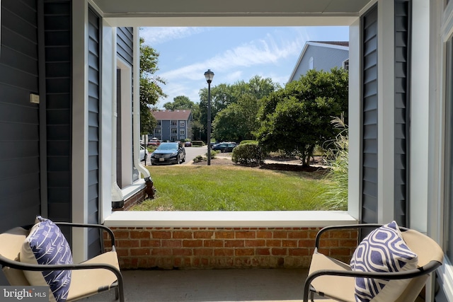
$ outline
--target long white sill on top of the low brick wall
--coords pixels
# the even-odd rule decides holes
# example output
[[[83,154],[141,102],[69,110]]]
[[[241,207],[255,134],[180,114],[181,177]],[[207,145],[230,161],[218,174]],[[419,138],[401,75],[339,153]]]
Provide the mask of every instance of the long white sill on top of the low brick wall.
[[[112,227],[322,227],[358,223],[347,211],[114,211]]]

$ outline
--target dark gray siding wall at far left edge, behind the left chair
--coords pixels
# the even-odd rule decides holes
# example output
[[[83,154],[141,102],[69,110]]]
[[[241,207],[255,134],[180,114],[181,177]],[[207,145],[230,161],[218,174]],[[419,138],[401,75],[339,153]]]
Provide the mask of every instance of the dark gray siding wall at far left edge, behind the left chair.
[[[37,33],[36,1],[1,1],[0,231],[40,214]]]

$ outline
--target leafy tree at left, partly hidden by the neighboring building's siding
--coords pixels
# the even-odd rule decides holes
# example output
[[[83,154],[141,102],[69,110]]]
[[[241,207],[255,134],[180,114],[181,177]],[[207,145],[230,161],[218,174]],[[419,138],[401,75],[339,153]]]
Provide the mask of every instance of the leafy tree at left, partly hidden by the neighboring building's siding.
[[[166,97],[159,83],[165,85],[164,79],[154,76],[159,63],[159,53],[144,44],[140,38],[140,134],[154,131],[157,121],[152,115],[151,106],[156,105],[159,98]]]

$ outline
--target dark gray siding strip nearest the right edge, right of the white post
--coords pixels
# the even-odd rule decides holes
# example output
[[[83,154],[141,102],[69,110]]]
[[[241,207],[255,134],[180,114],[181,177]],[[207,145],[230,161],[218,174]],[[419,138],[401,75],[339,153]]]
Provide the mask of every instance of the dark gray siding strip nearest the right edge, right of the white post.
[[[395,1],[395,221],[407,226],[410,2]]]

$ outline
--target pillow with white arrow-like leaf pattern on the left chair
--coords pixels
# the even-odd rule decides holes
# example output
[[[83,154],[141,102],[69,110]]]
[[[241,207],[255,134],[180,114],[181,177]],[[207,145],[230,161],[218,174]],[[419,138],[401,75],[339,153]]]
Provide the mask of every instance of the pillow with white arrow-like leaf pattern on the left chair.
[[[37,219],[40,222],[33,226],[23,243],[21,262],[34,265],[72,264],[71,249],[59,227],[49,219],[40,216]],[[71,284],[70,270],[24,271],[24,274],[30,285],[49,285],[55,301],[66,301]]]

